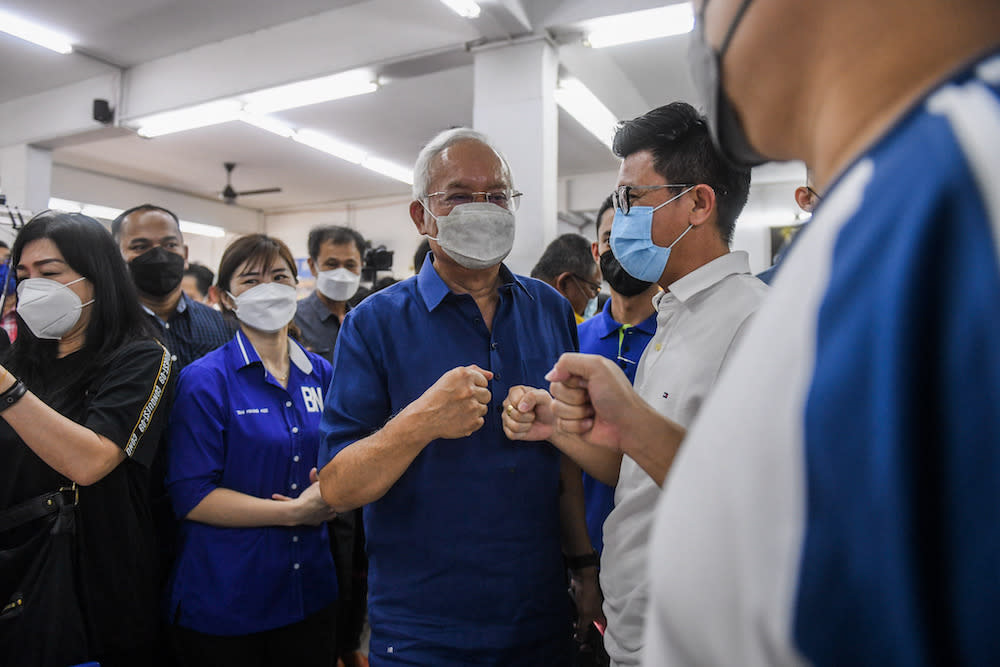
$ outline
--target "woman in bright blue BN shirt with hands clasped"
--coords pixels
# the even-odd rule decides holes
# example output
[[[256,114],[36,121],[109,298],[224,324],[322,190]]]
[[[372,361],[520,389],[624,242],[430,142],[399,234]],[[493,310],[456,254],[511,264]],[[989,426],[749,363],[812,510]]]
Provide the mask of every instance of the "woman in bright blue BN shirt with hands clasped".
[[[168,614],[182,665],[334,662],[336,574],[316,483],[330,365],[289,338],[295,261],[263,234],[218,272],[232,341],[181,373],[167,489],[181,523]]]

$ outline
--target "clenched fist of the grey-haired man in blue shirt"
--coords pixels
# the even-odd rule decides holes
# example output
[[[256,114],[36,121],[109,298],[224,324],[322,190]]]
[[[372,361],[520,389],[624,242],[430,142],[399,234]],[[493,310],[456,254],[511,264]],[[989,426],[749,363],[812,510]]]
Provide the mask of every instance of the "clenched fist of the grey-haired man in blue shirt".
[[[464,438],[482,428],[492,399],[487,388],[492,379],[492,372],[473,364],[453,368],[431,385],[417,399],[428,440]]]

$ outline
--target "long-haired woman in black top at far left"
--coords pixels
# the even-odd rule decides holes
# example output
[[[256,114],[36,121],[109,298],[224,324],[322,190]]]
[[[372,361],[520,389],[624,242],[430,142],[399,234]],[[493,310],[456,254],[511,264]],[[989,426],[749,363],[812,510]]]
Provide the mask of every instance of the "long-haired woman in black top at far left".
[[[19,327],[0,366],[0,512],[75,483],[71,585],[88,647],[77,661],[152,664],[159,565],[149,466],[173,390],[170,354],[148,335],[121,253],[97,221],[41,213],[12,256]],[[0,534],[0,549],[28,534],[30,525]],[[18,593],[14,569],[0,560],[0,605]],[[0,630],[4,622],[0,614]],[[42,625],[21,627],[21,641],[59,637]]]

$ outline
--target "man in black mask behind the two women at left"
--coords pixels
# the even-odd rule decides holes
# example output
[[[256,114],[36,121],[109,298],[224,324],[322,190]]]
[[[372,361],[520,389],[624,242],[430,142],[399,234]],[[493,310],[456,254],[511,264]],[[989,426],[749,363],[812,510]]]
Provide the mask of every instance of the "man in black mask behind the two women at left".
[[[184,294],[187,246],[177,216],[143,204],[111,223],[143,310],[179,368],[229,342],[233,330],[217,311]]]

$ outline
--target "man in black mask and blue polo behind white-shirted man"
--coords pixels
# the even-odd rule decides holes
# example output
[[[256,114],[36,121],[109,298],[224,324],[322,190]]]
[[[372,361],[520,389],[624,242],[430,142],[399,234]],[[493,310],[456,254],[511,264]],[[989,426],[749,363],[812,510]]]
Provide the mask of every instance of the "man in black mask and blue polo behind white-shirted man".
[[[597,211],[597,240],[591,244],[594,259],[611,288],[604,309],[580,324],[580,352],[599,354],[618,364],[629,382],[635,382],[639,358],[656,333],[653,297],[660,291],[655,282],[630,276],[611,252],[611,222],[615,209],[608,196]],[[587,532],[597,553],[604,548],[604,520],[615,506],[615,489],[583,473],[583,496],[587,506]]]

